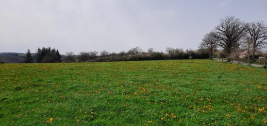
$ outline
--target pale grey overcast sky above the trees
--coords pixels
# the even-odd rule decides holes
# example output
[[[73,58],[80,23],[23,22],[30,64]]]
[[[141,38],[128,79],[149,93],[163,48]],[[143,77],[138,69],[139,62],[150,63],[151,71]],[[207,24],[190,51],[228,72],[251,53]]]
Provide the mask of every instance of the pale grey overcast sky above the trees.
[[[226,16],[267,23],[267,0],[0,0],[0,52],[195,50]]]

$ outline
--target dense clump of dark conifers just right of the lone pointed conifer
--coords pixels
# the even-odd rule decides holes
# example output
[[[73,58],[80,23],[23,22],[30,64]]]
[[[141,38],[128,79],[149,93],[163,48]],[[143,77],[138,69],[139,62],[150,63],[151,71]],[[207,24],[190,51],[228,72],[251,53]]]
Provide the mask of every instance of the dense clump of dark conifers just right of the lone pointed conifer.
[[[58,50],[43,47],[38,48],[34,55],[36,63],[57,63],[61,62],[61,55]]]

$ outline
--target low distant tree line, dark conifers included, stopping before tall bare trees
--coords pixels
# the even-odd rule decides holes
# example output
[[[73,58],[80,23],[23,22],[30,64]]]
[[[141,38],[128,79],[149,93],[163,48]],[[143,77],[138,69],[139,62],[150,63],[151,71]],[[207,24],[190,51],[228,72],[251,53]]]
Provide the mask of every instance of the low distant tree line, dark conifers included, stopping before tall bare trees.
[[[167,48],[166,53],[156,52],[153,48],[149,48],[144,52],[140,47],[134,47],[129,51],[121,51],[119,53],[110,53],[106,50],[80,52],[74,54],[67,52],[61,55],[58,50],[49,48],[38,48],[34,55],[30,50],[25,56],[25,63],[56,63],[56,62],[109,62],[109,61],[137,61],[137,60],[164,60],[164,59],[204,59],[209,54],[201,50],[186,50]]]

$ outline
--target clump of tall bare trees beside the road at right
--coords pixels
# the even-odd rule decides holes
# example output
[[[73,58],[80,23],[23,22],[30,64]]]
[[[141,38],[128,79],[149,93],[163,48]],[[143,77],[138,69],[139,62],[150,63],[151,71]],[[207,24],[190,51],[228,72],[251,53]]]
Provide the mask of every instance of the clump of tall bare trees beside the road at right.
[[[217,49],[222,49],[228,62],[239,62],[240,54],[246,52],[250,63],[250,58],[256,56],[255,52],[262,52],[264,48],[267,48],[267,27],[264,21],[245,23],[233,16],[221,19],[219,25],[206,34],[200,43],[200,50],[208,52],[210,59]]]

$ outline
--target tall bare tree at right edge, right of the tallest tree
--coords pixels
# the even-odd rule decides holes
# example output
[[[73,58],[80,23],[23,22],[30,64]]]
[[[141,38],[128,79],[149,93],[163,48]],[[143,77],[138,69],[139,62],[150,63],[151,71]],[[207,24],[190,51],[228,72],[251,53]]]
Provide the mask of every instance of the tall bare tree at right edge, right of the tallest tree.
[[[246,24],[246,31],[251,39],[252,58],[255,52],[267,46],[267,27],[264,21],[257,21]]]

